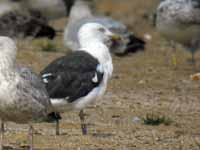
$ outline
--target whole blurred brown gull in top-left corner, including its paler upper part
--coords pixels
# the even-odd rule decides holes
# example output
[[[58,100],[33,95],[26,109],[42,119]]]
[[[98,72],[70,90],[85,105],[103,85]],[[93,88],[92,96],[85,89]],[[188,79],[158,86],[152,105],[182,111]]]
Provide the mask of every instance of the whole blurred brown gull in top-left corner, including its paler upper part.
[[[53,39],[55,30],[39,13],[23,7],[22,0],[0,1],[0,35],[12,38],[27,36]]]

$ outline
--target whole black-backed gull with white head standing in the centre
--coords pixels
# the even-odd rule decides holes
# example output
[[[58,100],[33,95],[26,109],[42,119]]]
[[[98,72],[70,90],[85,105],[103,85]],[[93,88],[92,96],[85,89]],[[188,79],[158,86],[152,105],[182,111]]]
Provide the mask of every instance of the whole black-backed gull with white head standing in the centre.
[[[58,112],[80,110],[83,134],[87,134],[83,109],[105,93],[113,72],[109,43],[117,39],[101,24],[84,24],[78,31],[80,48],[41,71],[54,108]]]

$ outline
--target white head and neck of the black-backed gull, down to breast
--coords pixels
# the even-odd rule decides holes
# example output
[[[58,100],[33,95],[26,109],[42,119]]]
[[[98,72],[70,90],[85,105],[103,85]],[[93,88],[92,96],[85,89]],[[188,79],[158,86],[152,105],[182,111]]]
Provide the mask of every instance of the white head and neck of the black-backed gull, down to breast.
[[[106,27],[99,23],[84,24],[79,32],[78,39],[80,50],[90,53],[97,58],[104,73],[110,77],[113,71],[112,57],[109,48],[113,40],[120,40],[120,36],[110,32]]]

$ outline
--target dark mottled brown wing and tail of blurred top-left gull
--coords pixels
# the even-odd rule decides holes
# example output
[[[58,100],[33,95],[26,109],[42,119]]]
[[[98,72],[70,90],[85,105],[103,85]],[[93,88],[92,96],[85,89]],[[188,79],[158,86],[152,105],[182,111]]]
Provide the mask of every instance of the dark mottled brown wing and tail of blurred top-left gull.
[[[44,18],[23,11],[11,11],[0,16],[0,35],[12,38],[46,37],[53,39],[56,31]]]

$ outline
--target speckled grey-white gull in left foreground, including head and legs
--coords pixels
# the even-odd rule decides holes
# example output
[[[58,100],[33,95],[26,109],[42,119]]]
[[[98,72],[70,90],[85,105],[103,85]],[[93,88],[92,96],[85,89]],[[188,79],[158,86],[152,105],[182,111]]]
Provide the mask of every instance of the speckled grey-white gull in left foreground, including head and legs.
[[[17,48],[13,40],[0,36],[0,118],[1,148],[3,122],[30,124],[33,146],[32,122],[57,120],[48,93],[39,76],[28,68],[16,66]]]

